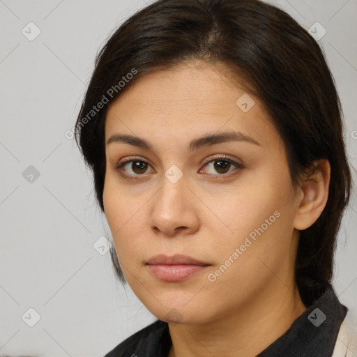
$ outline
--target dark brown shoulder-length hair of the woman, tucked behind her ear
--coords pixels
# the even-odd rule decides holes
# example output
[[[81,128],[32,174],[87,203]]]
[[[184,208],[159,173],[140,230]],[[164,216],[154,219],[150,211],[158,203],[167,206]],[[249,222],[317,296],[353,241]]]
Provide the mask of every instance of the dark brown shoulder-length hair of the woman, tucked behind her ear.
[[[100,208],[104,212],[107,107],[139,77],[190,59],[227,65],[261,100],[286,146],[294,186],[314,160],[326,158],[331,164],[328,202],[314,225],[301,231],[296,258],[296,282],[309,306],[316,298],[312,285],[333,277],[335,238],[349,202],[351,173],[340,101],[324,54],[275,6],[259,0],[159,0],[112,34],[96,58],[75,127],[77,144],[93,169]],[[98,102],[105,105],[91,112]],[[125,282],[115,250],[111,254]]]

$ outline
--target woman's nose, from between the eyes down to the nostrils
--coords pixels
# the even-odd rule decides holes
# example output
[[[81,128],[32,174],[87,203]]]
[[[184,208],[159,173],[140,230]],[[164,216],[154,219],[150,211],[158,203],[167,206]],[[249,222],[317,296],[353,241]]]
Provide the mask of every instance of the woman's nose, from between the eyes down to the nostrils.
[[[176,183],[163,176],[161,188],[150,200],[148,225],[155,234],[174,237],[199,229],[200,201],[188,184],[185,175]]]

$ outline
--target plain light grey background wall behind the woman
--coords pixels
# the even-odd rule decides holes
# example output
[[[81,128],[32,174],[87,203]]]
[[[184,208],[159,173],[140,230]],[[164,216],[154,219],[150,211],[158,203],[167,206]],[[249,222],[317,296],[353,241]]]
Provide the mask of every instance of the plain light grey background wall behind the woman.
[[[319,43],[335,76],[349,159],[357,167],[357,1],[276,3],[305,29],[319,22],[327,31]],[[129,287],[116,282],[109,253],[93,248],[109,229],[96,206],[91,173],[65,136],[98,49],[144,6],[143,0],[0,0],[1,356],[104,356],[155,319]],[[40,29],[32,41],[22,33],[36,34],[29,22]],[[40,174],[32,182],[30,165]],[[333,283],[354,314],[356,229],[354,190]],[[40,314],[33,327],[30,307]]]

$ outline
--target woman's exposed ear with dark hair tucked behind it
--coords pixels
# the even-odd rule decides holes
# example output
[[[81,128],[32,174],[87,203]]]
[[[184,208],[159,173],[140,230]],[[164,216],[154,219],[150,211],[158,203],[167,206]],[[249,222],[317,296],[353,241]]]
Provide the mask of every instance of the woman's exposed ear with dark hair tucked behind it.
[[[312,174],[304,179],[299,206],[294,218],[294,228],[306,229],[317,221],[326,206],[330,185],[331,166],[327,159],[314,161]]]

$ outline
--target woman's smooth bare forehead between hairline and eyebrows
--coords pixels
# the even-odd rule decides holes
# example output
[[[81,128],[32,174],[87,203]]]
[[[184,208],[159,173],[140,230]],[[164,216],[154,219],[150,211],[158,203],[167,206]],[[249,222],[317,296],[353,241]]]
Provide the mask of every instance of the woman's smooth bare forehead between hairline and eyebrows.
[[[120,132],[152,140],[182,139],[183,144],[205,132],[231,130],[262,144],[279,141],[259,100],[234,85],[228,72],[224,66],[196,61],[137,79],[109,106],[106,142]]]

